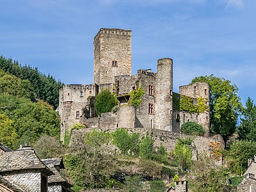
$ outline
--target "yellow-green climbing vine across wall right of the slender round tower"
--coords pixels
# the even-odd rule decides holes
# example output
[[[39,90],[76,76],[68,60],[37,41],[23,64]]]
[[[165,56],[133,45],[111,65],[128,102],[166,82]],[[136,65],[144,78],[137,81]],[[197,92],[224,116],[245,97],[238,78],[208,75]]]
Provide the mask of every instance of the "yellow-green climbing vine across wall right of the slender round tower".
[[[193,98],[178,93],[173,93],[173,108],[189,113],[204,113],[208,111],[208,100],[203,97],[196,98],[196,104],[193,104]]]

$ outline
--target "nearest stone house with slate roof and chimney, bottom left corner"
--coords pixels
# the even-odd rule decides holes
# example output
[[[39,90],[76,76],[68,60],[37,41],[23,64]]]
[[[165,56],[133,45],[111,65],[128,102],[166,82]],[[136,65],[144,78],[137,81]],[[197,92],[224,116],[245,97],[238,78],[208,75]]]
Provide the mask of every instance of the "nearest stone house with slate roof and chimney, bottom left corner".
[[[21,191],[47,192],[47,177],[53,172],[25,145],[17,151],[1,152],[0,175]]]

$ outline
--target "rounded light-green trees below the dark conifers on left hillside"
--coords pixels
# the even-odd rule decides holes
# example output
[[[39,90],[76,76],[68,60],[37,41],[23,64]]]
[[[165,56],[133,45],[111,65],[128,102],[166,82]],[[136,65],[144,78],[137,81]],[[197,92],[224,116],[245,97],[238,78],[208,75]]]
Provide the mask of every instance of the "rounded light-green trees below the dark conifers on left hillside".
[[[33,144],[43,134],[60,134],[58,113],[42,100],[31,102],[29,99],[3,93],[0,94],[0,113],[13,120],[15,131],[19,135],[16,147],[24,141]]]

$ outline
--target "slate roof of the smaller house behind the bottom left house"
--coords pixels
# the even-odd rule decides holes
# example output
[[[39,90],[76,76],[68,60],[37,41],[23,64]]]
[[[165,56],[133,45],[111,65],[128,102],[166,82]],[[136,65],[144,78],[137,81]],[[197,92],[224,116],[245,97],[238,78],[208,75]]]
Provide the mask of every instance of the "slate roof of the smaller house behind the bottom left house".
[[[72,185],[69,184],[69,182],[67,182],[67,180],[65,180],[64,177],[62,177],[60,172],[56,170],[55,166],[60,166],[60,168],[64,168],[62,158],[42,159],[42,162],[44,162],[44,164],[46,164],[46,166],[51,170],[51,172],[54,173],[54,175],[48,177],[48,184],[60,183],[66,188],[72,187]]]

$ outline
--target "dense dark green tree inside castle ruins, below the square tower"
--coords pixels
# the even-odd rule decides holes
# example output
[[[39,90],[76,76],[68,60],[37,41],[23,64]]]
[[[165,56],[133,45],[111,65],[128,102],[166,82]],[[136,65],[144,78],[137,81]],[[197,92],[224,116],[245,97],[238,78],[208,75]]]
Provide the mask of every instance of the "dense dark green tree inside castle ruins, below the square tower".
[[[114,106],[117,106],[118,100],[110,90],[101,90],[96,96],[95,108],[97,114],[100,116],[101,113],[110,112]]]

